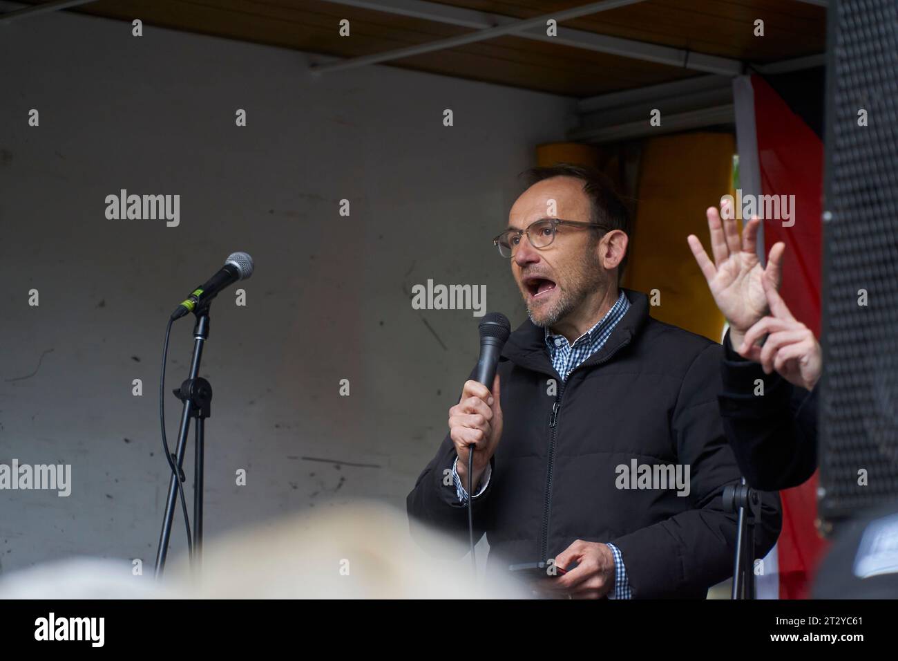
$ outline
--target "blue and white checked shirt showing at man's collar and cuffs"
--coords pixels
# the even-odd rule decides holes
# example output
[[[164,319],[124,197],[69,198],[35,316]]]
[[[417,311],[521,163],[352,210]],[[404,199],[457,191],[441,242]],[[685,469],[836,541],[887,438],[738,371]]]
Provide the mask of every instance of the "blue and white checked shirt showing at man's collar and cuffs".
[[[580,335],[574,344],[568,343],[564,335],[552,335],[546,328],[546,347],[549,350],[549,356],[552,361],[552,367],[559,373],[562,380],[567,381],[568,376],[577,366],[581,365],[587,358],[601,349],[608,341],[608,337],[612,334],[614,326],[621,321],[623,316],[629,309],[629,300],[621,291],[621,295],[617,301],[608,310],[608,313],[602,317],[595,326]],[[459,502],[466,503],[468,500],[468,492],[462,487],[462,478],[459,478],[458,472],[455,470],[455,464],[458,463],[458,457],[455,458],[452,465],[452,477],[455,483],[455,494],[458,496]],[[487,466],[480,478],[482,486],[474,494],[474,498],[483,493],[489,485],[489,476],[492,474],[492,468]],[[608,544],[612,549],[614,556],[614,594],[609,595],[609,599],[631,599],[633,597],[632,590],[627,580],[627,569],[623,564],[623,556],[621,550],[613,544]]]

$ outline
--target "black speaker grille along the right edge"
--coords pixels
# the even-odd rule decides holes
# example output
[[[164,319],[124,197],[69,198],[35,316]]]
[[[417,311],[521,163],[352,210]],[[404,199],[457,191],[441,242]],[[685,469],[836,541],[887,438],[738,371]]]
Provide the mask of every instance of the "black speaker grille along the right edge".
[[[898,4],[829,11],[819,514],[832,523],[898,496]]]

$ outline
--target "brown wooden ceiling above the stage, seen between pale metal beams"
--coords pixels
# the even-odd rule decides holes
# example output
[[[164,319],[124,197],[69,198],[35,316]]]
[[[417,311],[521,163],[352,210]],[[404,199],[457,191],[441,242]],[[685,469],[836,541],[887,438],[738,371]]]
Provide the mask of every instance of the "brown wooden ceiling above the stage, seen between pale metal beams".
[[[31,4],[40,4],[30,0]],[[588,0],[441,4],[532,18]],[[98,0],[75,10],[235,40],[353,58],[465,34],[467,28],[321,0]],[[562,26],[725,58],[768,62],[823,52],[825,10],[794,0],[647,0]],[[348,19],[351,36],[339,36]],[[763,38],[753,21],[765,21]],[[14,29],[14,23],[10,26]],[[392,66],[584,97],[699,75],[694,70],[505,36],[402,58]],[[339,76],[340,72],[324,74]]]

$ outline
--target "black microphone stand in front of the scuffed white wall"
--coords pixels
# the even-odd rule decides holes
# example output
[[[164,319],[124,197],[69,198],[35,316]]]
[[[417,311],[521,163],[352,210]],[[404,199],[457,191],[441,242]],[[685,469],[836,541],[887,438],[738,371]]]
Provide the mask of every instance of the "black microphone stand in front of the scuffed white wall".
[[[172,521],[174,519],[175,505],[178,502],[178,479],[183,482],[184,471],[181,466],[184,462],[184,452],[187,449],[187,434],[189,433],[190,418],[196,421],[195,456],[193,462],[193,557],[192,567],[199,568],[203,543],[203,449],[205,442],[206,418],[212,415],[212,386],[209,382],[198,377],[199,363],[203,357],[203,344],[209,336],[209,304],[212,299],[203,301],[193,310],[197,322],[193,326],[193,358],[190,361],[190,371],[187,380],[180,384],[180,388],[173,389],[175,397],[183,403],[180,416],[180,432],[178,445],[172,460],[178,467],[178,476],[172,474],[169,478],[168,500],[165,503],[165,518],[163,520],[162,533],[159,536],[159,549],[156,552],[155,576],[159,578],[165,568],[165,559],[168,556],[169,539],[172,535]]]

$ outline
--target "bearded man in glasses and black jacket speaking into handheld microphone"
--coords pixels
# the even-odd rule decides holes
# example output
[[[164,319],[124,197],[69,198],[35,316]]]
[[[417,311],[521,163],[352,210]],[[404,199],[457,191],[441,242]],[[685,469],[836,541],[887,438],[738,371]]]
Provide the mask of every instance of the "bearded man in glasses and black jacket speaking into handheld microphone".
[[[618,287],[629,219],[601,174],[529,174],[495,239],[529,319],[491,391],[464,384],[409,516],[463,539],[470,492],[488,571],[553,561],[569,571],[540,583],[562,597],[703,598],[732,575],[736,536],[722,498],[740,475],[718,414],[721,347]],[[755,558],[779,533],[779,496],[762,505]]]

